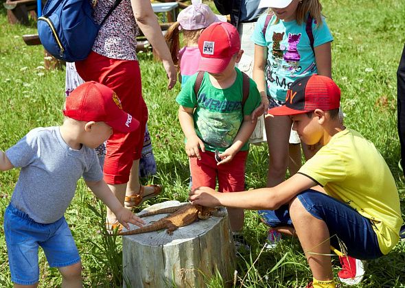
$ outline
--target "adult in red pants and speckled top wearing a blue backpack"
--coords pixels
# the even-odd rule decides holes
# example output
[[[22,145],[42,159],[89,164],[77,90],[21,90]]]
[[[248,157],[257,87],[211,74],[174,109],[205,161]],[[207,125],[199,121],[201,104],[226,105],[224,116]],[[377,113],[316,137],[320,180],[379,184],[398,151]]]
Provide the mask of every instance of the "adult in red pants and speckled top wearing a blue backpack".
[[[101,23],[114,2],[95,3],[93,17],[97,23]],[[119,96],[123,110],[140,123],[139,130],[128,134],[114,131],[107,141],[104,180],[122,204],[126,195],[136,195],[143,190],[138,169],[148,108],[142,97],[136,54],[138,27],[162,60],[169,78],[167,87],[171,89],[176,84],[176,69],[150,0],[122,0],[102,25],[89,57],[76,62],[76,69],[84,81],[94,80],[112,88]],[[109,210],[107,222],[117,223]]]

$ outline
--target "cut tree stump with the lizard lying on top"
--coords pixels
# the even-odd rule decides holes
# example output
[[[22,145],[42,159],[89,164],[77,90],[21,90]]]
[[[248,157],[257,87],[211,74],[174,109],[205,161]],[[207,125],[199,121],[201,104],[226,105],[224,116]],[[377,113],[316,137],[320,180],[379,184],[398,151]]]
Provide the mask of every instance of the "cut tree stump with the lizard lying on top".
[[[178,201],[155,204],[139,215],[179,204]],[[178,228],[173,235],[159,230],[124,236],[124,287],[206,287],[204,279],[217,271],[224,282],[232,283],[235,246],[227,212],[222,209],[223,217],[196,221]],[[148,224],[165,216],[153,215],[144,220]]]

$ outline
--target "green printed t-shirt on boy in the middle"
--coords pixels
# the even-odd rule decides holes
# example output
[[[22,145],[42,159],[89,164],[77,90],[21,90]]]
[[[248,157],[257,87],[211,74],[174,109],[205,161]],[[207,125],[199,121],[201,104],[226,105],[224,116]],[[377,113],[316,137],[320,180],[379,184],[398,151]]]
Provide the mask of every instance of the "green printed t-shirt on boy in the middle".
[[[194,84],[197,74],[189,78],[176,102],[194,110],[194,129],[197,136],[203,140],[205,149],[214,152],[216,149],[224,152],[233,143],[238,134],[244,115],[251,115],[260,104],[260,94],[253,80],[250,80],[249,96],[242,111],[243,76],[238,68],[235,82],[225,89],[212,86],[209,74],[205,73],[201,82],[198,97],[194,94]],[[187,139],[186,139],[187,141]],[[245,143],[241,151],[248,149]]]

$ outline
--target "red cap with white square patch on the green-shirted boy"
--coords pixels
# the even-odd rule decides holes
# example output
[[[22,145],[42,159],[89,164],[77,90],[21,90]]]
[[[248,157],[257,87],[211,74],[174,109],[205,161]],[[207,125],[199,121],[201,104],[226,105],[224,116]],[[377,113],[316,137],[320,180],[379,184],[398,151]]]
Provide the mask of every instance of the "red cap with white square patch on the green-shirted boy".
[[[227,22],[212,23],[198,38],[198,48],[201,53],[198,71],[221,73],[240,50],[238,30]]]

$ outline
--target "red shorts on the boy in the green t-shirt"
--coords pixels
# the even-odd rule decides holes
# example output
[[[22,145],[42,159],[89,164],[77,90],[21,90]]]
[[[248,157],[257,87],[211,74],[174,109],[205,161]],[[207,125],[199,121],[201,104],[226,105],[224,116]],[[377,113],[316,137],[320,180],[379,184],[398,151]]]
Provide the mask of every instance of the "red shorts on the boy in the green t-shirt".
[[[189,158],[192,171],[192,189],[201,186],[215,189],[218,177],[218,191],[239,192],[244,191],[244,172],[246,168],[247,151],[238,152],[230,163],[217,165],[213,152],[201,152],[201,160],[196,157]]]

